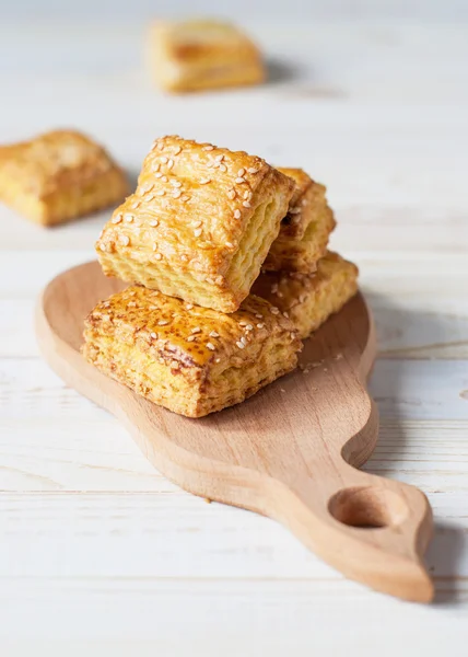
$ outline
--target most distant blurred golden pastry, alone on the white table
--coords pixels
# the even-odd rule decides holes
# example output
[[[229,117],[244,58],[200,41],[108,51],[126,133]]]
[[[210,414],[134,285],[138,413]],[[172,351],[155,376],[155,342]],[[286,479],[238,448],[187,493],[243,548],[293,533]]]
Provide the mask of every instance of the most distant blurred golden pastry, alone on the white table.
[[[258,48],[219,21],[160,21],[150,33],[150,65],[168,91],[257,84],[265,80]]]

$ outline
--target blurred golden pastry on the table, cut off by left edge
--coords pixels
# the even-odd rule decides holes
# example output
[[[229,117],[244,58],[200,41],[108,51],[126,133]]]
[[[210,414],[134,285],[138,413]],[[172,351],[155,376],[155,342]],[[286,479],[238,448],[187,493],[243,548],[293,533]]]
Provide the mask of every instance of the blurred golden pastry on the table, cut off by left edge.
[[[0,200],[43,226],[120,201],[128,182],[108,153],[72,130],[0,147]]]

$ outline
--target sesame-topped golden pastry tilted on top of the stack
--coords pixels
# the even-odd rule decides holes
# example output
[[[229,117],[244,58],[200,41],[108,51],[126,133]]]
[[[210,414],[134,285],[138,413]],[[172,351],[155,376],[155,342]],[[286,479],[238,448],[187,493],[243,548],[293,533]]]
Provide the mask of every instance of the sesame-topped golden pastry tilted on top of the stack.
[[[223,312],[247,297],[293,182],[260,158],[157,139],[96,243],[107,276]]]

